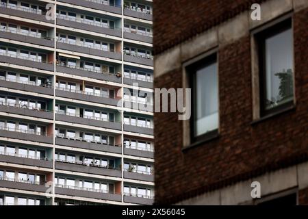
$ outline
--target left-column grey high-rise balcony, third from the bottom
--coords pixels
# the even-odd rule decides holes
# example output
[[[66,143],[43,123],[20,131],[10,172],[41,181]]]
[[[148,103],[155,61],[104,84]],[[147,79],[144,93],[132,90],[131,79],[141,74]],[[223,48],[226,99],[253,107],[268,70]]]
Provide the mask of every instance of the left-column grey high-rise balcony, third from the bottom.
[[[31,142],[53,144],[53,136],[47,133],[0,127],[0,137],[15,138]]]

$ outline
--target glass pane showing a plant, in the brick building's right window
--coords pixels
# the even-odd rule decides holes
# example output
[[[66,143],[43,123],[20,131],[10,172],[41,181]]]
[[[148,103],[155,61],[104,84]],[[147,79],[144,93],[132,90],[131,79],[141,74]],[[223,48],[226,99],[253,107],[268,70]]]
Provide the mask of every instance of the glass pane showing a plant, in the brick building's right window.
[[[292,29],[265,40],[266,110],[293,99]]]

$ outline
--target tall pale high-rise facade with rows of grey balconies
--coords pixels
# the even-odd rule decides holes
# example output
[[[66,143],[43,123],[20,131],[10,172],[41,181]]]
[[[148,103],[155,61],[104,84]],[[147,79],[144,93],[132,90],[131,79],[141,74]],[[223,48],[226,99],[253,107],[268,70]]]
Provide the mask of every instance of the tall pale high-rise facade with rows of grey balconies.
[[[1,0],[0,205],[151,205],[153,2]]]

